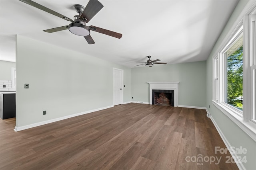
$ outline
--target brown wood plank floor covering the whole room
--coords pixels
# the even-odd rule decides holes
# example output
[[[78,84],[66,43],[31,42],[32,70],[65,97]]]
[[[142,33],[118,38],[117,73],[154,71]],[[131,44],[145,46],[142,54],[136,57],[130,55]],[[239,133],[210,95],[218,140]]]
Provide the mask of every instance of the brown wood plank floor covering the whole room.
[[[130,103],[19,132],[14,126],[15,118],[0,120],[1,170],[238,169],[226,163],[230,153],[214,153],[226,147],[202,109]]]

